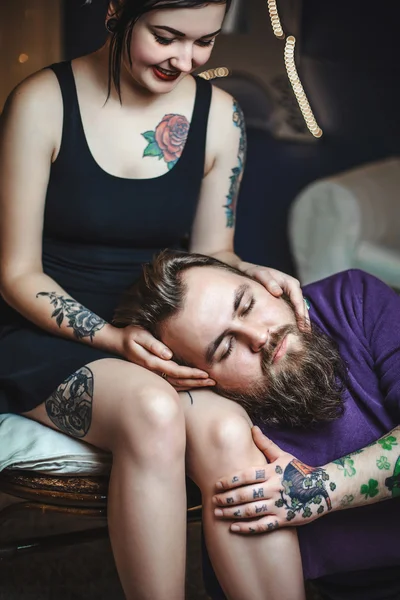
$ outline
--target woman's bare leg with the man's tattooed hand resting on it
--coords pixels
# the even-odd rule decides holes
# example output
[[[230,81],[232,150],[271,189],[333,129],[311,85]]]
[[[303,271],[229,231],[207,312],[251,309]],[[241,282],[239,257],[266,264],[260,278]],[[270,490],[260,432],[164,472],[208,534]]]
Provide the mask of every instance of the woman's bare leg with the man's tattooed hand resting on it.
[[[206,544],[229,600],[304,600],[301,557],[294,528],[241,537],[214,517],[212,497],[221,476],[266,464],[251,436],[251,421],[237,404],[210,391],[186,400],[187,469],[200,487]]]

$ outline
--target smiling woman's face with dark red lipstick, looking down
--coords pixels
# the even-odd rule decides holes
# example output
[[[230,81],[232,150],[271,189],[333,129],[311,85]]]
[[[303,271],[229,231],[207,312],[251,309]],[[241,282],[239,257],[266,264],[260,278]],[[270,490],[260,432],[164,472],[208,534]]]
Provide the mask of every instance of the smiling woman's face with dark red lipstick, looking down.
[[[127,56],[124,58],[130,76],[152,93],[170,92],[210,58],[225,9],[225,4],[211,3],[142,15],[132,32],[132,64]]]

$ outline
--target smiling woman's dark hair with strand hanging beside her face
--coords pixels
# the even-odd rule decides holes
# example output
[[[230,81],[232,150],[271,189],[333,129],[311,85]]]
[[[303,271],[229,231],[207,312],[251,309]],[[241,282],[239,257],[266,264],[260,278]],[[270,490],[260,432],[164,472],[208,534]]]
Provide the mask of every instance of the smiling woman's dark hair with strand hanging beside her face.
[[[86,0],[91,4],[93,0]],[[108,96],[111,92],[111,81],[121,100],[121,61],[126,48],[129,62],[132,63],[130,46],[132,30],[137,20],[152,10],[167,8],[201,8],[207,4],[226,4],[228,12],[232,0],[114,0],[115,26],[113,27],[108,76]]]

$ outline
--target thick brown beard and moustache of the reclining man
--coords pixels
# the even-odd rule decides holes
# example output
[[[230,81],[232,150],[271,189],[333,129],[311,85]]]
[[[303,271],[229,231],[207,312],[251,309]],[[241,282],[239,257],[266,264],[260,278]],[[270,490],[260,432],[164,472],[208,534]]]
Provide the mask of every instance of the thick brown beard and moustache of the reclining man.
[[[272,357],[288,335],[300,341],[300,350],[288,351],[276,368]],[[261,383],[245,392],[217,386],[215,391],[241,404],[254,423],[309,427],[330,422],[343,414],[343,390],[347,372],[335,342],[315,328],[300,331],[282,327],[262,351]]]

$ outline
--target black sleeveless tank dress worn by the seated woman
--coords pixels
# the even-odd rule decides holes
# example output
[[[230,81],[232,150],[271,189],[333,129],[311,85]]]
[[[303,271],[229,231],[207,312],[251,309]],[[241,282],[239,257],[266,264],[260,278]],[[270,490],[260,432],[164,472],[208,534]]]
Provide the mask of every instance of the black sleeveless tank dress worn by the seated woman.
[[[196,79],[192,121],[175,166],[153,179],[124,179],[101,169],[89,150],[71,63],[50,68],[64,120],[46,196],[44,272],[110,321],[141,264],[160,249],[181,247],[190,233],[204,176],[211,85]],[[77,369],[111,356],[39,329],[0,298],[0,413],[35,408]]]

